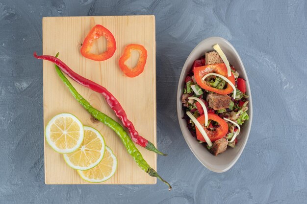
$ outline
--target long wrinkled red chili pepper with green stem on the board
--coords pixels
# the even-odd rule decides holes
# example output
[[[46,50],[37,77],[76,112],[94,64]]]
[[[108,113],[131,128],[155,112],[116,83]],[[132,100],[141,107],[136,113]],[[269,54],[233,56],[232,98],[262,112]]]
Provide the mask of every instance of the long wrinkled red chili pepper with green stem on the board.
[[[136,144],[145,147],[146,149],[153,151],[159,155],[166,156],[166,154],[163,154],[162,152],[158,151],[152,142],[148,141],[144,137],[140,136],[138,132],[135,130],[132,122],[128,120],[127,114],[121,104],[118,102],[118,100],[110,93],[107,91],[104,87],[101,85],[84,78],[83,76],[80,76],[76,72],[74,72],[71,68],[69,68],[64,62],[62,62],[60,59],[53,57],[51,55],[41,55],[37,56],[36,52],[34,52],[34,57],[36,59],[43,59],[43,60],[48,60],[54,64],[56,64],[63,72],[65,72],[70,78],[72,78],[74,81],[77,83],[81,84],[84,87],[87,87],[93,91],[96,91],[98,93],[101,93],[102,96],[105,98],[107,104],[113,109],[115,112],[116,116],[121,119],[123,125],[128,128],[128,131],[131,135],[131,139],[133,142]]]

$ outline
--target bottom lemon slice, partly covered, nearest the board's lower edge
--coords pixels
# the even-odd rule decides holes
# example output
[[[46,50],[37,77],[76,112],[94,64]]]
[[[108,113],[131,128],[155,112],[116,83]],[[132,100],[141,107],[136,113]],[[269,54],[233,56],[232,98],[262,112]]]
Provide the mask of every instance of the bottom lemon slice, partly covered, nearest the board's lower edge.
[[[110,179],[116,171],[117,159],[109,147],[105,147],[102,161],[94,168],[86,171],[77,171],[80,177],[89,182],[102,182]]]

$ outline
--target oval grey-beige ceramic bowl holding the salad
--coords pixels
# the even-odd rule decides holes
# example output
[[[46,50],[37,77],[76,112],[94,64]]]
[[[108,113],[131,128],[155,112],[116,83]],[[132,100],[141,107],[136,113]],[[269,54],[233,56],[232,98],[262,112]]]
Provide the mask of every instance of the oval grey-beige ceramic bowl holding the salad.
[[[183,110],[182,110],[182,103],[181,103],[181,95],[184,90],[184,79],[187,75],[187,73],[190,71],[194,60],[199,59],[201,56],[205,54],[205,52],[212,51],[213,45],[219,44],[222,48],[223,52],[227,56],[228,61],[231,65],[234,66],[234,68],[239,72],[240,77],[244,78],[246,80],[246,94],[248,94],[249,97],[249,110],[247,113],[249,113],[250,119],[248,121],[245,121],[243,126],[241,127],[240,134],[237,136],[238,143],[236,144],[235,148],[227,148],[227,151],[223,154],[220,154],[218,156],[213,156],[204,144],[200,144],[195,137],[192,136],[190,131],[187,128],[187,124],[185,119],[182,119],[184,116]],[[179,85],[178,85],[178,91],[177,91],[177,112],[178,112],[178,119],[179,119],[179,125],[181,128],[182,135],[188,144],[189,148],[195,155],[195,157],[209,170],[213,172],[226,172],[228,171],[235,162],[239,159],[241,156],[244,147],[246,145],[246,142],[248,140],[251,126],[252,126],[252,120],[253,120],[253,102],[252,102],[252,95],[251,95],[251,89],[250,89],[250,83],[244,68],[244,65],[242,63],[242,60],[237,53],[237,51],[234,49],[234,47],[228,42],[227,40],[220,38],[220,37],[210,37],[205,40],[203,40],[201,43],[199,43],[190,53],[188,58],[186,59],[184,66],[182,68],[180,78],[179,78]]]

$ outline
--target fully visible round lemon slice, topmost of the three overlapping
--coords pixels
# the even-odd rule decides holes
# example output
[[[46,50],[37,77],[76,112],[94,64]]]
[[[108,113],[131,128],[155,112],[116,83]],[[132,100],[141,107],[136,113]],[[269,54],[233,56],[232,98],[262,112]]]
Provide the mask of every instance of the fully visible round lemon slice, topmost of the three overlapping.
[[[80,146],[84,132],[80,120],[73,114],[55,115],[45,129],[47,143],[61,154],[71,153]]]

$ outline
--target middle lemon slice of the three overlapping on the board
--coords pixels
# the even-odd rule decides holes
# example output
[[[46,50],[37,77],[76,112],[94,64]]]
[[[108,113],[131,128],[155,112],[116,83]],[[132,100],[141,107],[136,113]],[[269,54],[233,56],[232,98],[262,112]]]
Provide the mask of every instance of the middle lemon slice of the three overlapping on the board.
[[[66,163],[77,170],[88,170],[99,164],[103,158],[105,143],[96,129],[84,126],[84,139],[73,153],[64,154]]]

